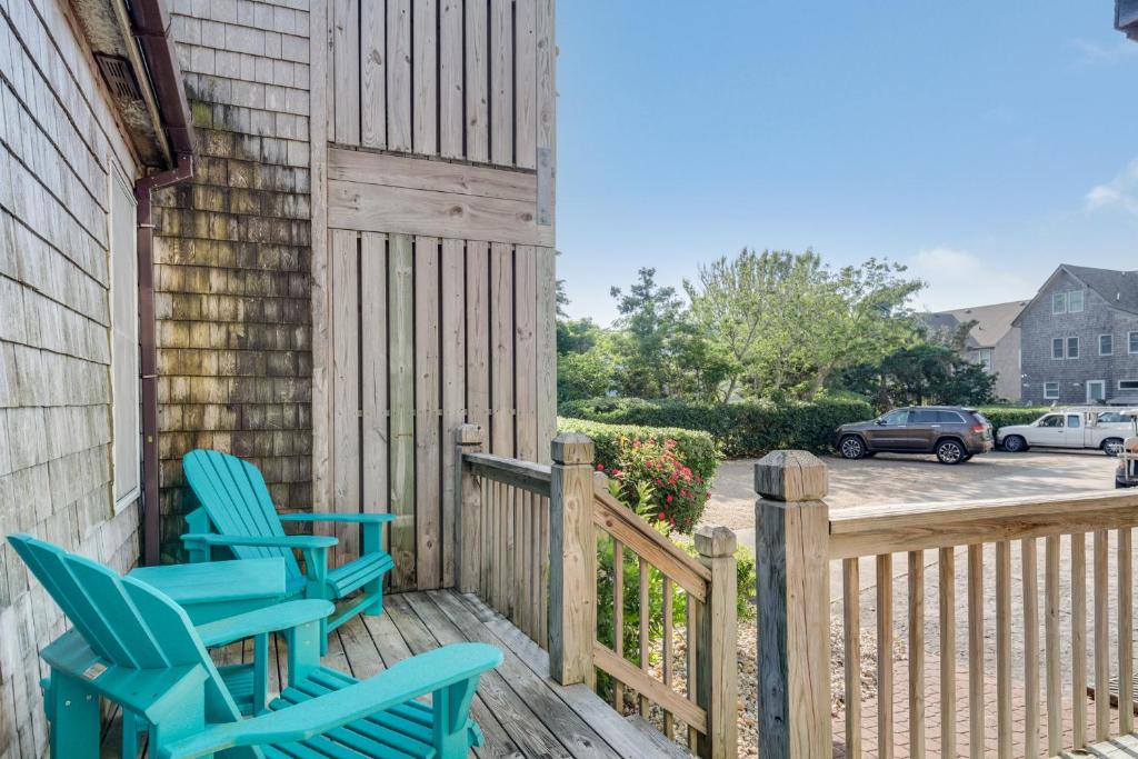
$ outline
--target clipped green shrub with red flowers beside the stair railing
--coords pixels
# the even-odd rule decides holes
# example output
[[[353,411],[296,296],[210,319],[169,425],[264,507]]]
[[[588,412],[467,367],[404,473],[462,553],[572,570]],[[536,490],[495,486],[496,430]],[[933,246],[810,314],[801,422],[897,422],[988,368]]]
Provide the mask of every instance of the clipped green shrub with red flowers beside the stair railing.
[[[615,495],[642,515],[682,533],[699,522],[719,467],[710,435],[579,419],[559,419],[558,428],[593,439],[597,470],[615,480]]]

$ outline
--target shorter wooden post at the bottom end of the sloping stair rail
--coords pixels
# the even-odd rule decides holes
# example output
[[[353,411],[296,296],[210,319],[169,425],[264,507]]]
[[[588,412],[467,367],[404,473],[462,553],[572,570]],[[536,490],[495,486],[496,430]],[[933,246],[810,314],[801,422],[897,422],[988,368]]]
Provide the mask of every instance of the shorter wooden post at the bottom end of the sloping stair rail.
[[[700,757],[728,759],[739,756],[735,534],[703,526],[695,533],[695,550],[711,570],[707,602],[701,605],[695,682],[695,702],[708,713],[708,731],[696,748]]]

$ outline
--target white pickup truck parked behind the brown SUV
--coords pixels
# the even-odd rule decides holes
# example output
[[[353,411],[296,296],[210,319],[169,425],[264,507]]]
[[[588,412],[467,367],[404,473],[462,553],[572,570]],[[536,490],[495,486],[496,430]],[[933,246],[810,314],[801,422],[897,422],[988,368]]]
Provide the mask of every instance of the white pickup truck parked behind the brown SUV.
[[[1131,424],[1131,419],[1118,410],[1056,409],[1030,424],[999,428],[996,445],[1012,453],[1036,446],[1098,448],[1108,456],[1116,456]]]

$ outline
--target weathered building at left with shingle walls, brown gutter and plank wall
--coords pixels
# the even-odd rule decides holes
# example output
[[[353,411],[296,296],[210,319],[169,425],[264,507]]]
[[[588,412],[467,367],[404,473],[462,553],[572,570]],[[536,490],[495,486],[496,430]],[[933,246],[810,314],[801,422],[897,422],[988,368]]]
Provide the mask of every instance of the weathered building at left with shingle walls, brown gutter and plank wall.
[[[0,105],[0,537],[176,560],[212,447],[453,585],[455,428],[555,431],[553,0],[3,0]],[[0,756],[63,625],[0,542]]]

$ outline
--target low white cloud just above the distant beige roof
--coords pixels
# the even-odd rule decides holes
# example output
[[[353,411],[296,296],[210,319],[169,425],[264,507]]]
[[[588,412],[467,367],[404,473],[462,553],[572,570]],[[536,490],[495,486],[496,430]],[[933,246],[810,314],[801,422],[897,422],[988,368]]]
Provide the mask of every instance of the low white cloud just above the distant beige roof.
[[[995,257],[981,258],[949,246],[925,248],[907,263],[909,273],[929,286],[914,305],[929,311],[1026,299],[1034,296],[1039,287],[1031,277],[1001,270]]]

